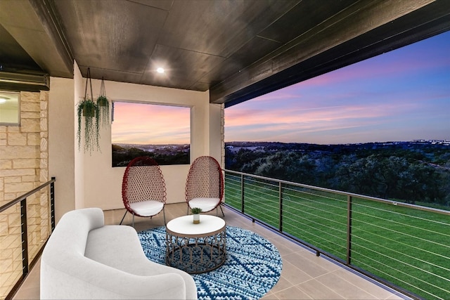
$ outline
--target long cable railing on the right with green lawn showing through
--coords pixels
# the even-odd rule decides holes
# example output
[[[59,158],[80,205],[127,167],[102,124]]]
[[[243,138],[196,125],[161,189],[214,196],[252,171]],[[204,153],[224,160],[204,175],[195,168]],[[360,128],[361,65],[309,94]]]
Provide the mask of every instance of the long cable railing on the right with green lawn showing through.
[[[225,172],[253,221],[415,299],[450,299],[450,211]]]

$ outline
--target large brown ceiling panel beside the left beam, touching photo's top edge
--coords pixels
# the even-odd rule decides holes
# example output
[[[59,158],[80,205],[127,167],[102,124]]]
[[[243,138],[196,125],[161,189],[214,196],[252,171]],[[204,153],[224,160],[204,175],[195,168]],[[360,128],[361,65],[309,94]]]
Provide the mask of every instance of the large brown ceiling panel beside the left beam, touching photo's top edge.
[[[144,72],[167,11],[131,1],[56,1],[77,63]]]

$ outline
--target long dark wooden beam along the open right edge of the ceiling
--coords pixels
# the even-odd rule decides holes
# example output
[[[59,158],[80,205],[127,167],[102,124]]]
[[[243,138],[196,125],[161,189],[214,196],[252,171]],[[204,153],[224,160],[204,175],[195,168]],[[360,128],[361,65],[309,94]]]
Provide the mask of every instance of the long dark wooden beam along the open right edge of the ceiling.
[[[319,76],[370,57],[366,51],[373,55],[405,46],[406,41],[395,39],[408,37],[411,32],[413,41],[419,41],[436,31],[430,22],[441,22],[449,12],[445,1],[356,2],[276,53],[213,86],[210,102],[228,107]],[[417,18],[422,20],[418,22]]]

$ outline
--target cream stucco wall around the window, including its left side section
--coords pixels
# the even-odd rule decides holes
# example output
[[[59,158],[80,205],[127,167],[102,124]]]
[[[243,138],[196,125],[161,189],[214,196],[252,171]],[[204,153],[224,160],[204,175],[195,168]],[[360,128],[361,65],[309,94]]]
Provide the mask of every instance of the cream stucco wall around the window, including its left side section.
[[[57,178],[57,221],[70,209],[123,208],[121,188],[125,168],[111,167],[110,127],[101,129],[101,152],[89,154],[83,148],[78,149],[76,105],[80,96],[84,95],[84,84],[85,79],[81,77],[76,64],[74,79],[51,78],[50,174]],[[98,96],[100,84],[100,80],[92,80],[94,97]],[[223,105],[210,104],[207,91],[168,89],[115,81],[105,81],[105,89],[106,96],[111,100],[191,107],[191,161],[200,155],[211,155],[221,162]],[[53,161],[53,157],[56,161]],[[183,202],[189,165],[161,166],[161,169],[167,185],[167,203]]]

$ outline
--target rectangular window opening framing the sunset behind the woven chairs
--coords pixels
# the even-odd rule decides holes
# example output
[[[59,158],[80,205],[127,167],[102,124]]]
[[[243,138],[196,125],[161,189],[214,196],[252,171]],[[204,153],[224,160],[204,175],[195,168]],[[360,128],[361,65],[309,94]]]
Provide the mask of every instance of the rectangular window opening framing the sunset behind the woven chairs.
[[[190,164],[191,108],[148,103],[113,103],[113,167],[150,156],[160,165]]]

